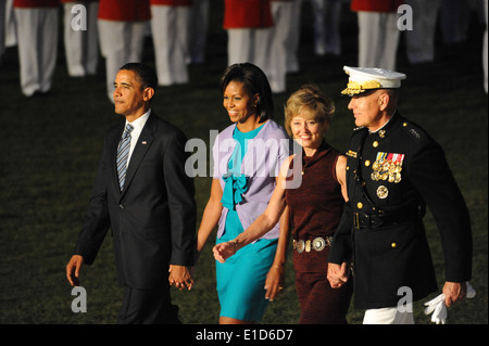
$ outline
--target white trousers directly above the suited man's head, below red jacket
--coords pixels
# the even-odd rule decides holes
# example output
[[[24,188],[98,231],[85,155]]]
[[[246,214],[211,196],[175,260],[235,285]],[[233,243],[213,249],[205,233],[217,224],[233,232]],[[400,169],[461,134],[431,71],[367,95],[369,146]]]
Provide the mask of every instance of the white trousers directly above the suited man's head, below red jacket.
[[[105,84],[109,100],[114,102],[114,80],[118,69],[129,62],[140,62],[148,22],[98,20],[100,50],[105,57]]]

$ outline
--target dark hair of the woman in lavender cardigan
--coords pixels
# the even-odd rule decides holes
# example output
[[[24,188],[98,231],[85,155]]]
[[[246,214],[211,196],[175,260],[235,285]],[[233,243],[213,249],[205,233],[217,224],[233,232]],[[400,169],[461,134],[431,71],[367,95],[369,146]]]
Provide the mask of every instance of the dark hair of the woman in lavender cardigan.
[[[260,123],[274,117],[274,100],[272,89],[263,71],[251,63],[239,63],[226,68],[220,80],[221,94],[224,94],[227,85],[231,81],[242,82],[250,95],[259,94],[256,112]]]

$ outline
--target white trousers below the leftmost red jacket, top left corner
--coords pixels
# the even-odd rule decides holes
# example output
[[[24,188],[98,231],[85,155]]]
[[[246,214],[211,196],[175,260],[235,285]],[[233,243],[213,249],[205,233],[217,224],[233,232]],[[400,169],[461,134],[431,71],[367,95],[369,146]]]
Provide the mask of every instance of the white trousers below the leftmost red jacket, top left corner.
[[[21,88],[26,97],[51,90],[58,52],[58,9],[14,9],[21,63]]]

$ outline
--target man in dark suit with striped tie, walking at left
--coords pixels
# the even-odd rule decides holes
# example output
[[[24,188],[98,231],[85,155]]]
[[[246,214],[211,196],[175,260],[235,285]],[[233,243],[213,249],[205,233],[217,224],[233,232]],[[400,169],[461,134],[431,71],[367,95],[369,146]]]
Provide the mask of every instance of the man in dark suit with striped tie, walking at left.
[[[168,281],[180,290],[192,284],[196,202],[185,171],[186,137],[150,110],[156,86],[143,64],[118,71],[115,113],[126,120],[105,137],[85,225],[66,266],[67,280],[78,285],[82,265],[93,262],[111,228],[117,280],[125,287],[118,323],[178,323]]]

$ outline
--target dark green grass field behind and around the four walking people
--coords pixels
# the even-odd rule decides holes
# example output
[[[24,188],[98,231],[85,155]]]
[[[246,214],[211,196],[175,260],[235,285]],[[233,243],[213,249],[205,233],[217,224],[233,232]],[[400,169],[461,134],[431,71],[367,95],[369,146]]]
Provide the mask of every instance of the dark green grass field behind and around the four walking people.
[[[208,62],[190,66],[188,85],[159,88],[153,105],[160,116],[180,127],[188,138],[201,138],[206,143],[211,129],[222,130],[229,125],[217,90],[217,80],[226,67],[226,33],[222,29],[221,2],[211,2]],[[343,55],[319,57],[313,53],[310,13],[305,5],[299,50],[301,72],[288,77],[287,93],[275,97],[276,119],[283,121],[283,105],[293,90],[315,82],[334,98],[337,106],[327,140],[344,150],[354,124],[347,110],[348,98],[340,97],[347,84],[342,66],[356,64],[356,17],[344,9]],[[398,57],[398,71],[408,74],[400,111],[425,127],[446,149],[471,210],[472,284],[477,296],[450,308],[448,323],[452,324],[488,322],[488,104],[482,89],[482,29],[474,14],[468,41],[446,46],[438,40],[437,62],[429,66],[410,65],[403,40]],[[143,60],[153,65],[150,40]],[[20,90],[15,48],[7,51],[0,65],[0,323],[102,324],[116,320],[122,290],[115,283],[110,235],[95,265],[85,266],[82,273],[88,312],[72,312],[74,296],[65,279],[65,265],[83,222],[103,136],[121,120],[105,97],[103,61],[99,67],[95,78],[68,78],[60,41],[51,94],[26,99]],[[210,183],[209,177],[196,178],[198,220]],[[429,214],[425,220],[441,287],[443,255],[438,230]],[[173,292],[184,323],[217,323],[212,246],[210,241],[196,267],[195,289]],[[298,321],[290,257],[285,292],[269,304],[263,323]],[[423,303],[415,304],[415,319],[416,323],[427,324],[429,318],[422,312]],[[350,323],[361,323],[363,311],[352,308],[348,318]]]

